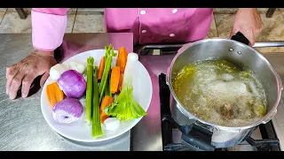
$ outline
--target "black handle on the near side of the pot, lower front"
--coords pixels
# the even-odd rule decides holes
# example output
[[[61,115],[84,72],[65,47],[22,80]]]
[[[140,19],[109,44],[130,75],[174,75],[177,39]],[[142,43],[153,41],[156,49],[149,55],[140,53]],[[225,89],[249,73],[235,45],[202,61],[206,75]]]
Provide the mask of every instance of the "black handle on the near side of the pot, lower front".
[[[211,145],[212,132],[199,125],[184,125],[179,127],[183,132],[181,142],[195,151],[214,151]]]

